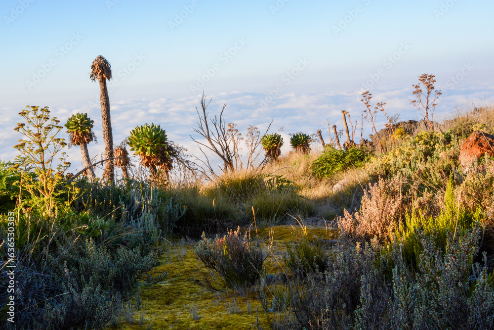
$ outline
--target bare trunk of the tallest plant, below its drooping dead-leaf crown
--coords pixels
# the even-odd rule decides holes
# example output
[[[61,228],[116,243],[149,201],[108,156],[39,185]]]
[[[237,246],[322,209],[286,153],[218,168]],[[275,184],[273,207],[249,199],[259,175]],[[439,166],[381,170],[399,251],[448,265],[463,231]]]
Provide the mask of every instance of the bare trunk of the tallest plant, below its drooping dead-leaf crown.
[[[113,166],[113,133],[112,122],[110,119],[110,97],[106,88],[106,80],[102,77],[99,80],[99,100],[101,101],[101,119],[103,124],[103,140],[105,141],[105,170],[103,171],[103,180],[114,183],[114,166]]]

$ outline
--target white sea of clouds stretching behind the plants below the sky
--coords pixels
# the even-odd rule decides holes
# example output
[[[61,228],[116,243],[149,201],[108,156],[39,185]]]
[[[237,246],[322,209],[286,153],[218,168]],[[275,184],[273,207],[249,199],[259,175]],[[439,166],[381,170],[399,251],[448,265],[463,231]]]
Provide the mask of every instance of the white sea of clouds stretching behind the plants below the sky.
[[[474,78],[474,77],[470,77]],[[443,95],[440,98],[435,120],[443,120],[453,116],[455,109],[468,109],[475,105],[491,103],[493,96],[494,79],[478,80],[470,79],[467,83],[454,85],[451,80],[439,82],[438,87],[443,87]],[[314,86],[316,86],[315,84]],[[207,101],[211,100],[207,111],[209,118],[219,115],[223,104],[227,104],[223,114],[226,123],[235,122],[239,131],[246,133],[249,125],[256,126],[264,133],[272,122],[270,132],[280,132],[285,140],[282,153],[289,151],[289,134],[304,132],[314,134],[317,130],[323,131],[326,142],[328,138],[328,122],[336,124],[338,130],[343,128],[341,110],[349,112],[350,118],[355,125],[358,121],[358,129],[355,140],[360,139],[360,119],[361,113],[365,110],[361,102],[360,93],[364,91],[363,84],[333,84],[325,86],[324,90],[314,86],[300,86],[291,90],[282,91],[273,96],[272,88],[262,89],[256,92],[231,91],[228,93],[206,94]],[[408,87],[407,87],[408,86]],[[373,104],[384,101],[387,103],[386,111],[389,116],[400,115],[400,120],[420,119],[420,113],[415,109],[411,100],[412,84],[388,82],[378,89],[371,90],[373,94]],[[113,139],[115,144],[119,144],[129,132],[137,125],[145,123],[160,125],[165,129],[168,139],[185,146],[187,153],[204,159],[197,143],[192,138],[203,141],[194,132],[197,127],[198,114],[196,107],[201,112],[201,95],[170,97],[120,97],[115,99],[110,95],[111,101],[111,121],[113,127]],[[13,128],[21,117],[18,112],[24,104],[19,104],[19,108],[3,108],[0,116],[0,159],[3,161],[13,160],[18,151],[12,148],[22,138],[21,134],[15,132]],[[88,113],[95,122],[94,132],[98,143],[89,144],[91,157],[97,156],[100,159],[104,151],[103,135],[101,130],[101,109],[98,97],[91,100],[74,101],[72,104],[54,104],[50,106],[51,115],[58,117],[61,123],[65,123],[68,117],[77,112]],[[378,127],[387,122],[382,113],[378,114]],[[371,126],[364,122],[364,138],[368,138],[371,133]],[[65,129],[60,133],[67,138]],[[192,138],[191,138],[192,137]],[[205,142],[205,141],[203,141]],[[315,143],[315,148],[321,148]],[[76,172],[82,168],[81,153],[77,146],[66,150],[69,161],[72,162],[71,172]],[[209,155],[211,155],[209,153]],[[192,157],[194,159],[194,157]]]

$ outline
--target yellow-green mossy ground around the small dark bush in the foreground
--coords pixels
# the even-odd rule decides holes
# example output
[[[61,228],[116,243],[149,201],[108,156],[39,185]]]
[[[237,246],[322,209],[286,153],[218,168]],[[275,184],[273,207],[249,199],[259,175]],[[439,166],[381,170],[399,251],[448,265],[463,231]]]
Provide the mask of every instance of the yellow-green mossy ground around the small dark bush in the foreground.
[[[255,235],[255,231],[252,231],[251,236]],[[283,262],[285,245],[300,235],[302,229],[292,226],[258,230],[259,240],[268,253],[265,262],[266,274],[286,272]],[[325,228],[311,227],[307,228],[307,235],[317,239],[331,239],[334,233]],[[231,289],[217,292],[204,286],[204,280],[211,279],[210,272],[196,259],[193,245],[175,243],[171,251],[162,256],[161,262],[153,272],[167,272],[168,278],[162,283],[142,285],[142,307],[136,312],[134,324],[121,322],[118,327],[112,326],[109,329],[257,329],[256,309],[260,326],[270,329],[266,314],[254,292],[240,295]],[[269,291],[273,289],[274,286],[268,286],[265,290],[268,299],[272,298]],[[238,308],[237,313],[231,312],[234,303]],[[248,303],[251,306],[250,313]],[[191,317],[191,306],[197,307],[198,320]],[[139,325],[141,315],[143,318]]]

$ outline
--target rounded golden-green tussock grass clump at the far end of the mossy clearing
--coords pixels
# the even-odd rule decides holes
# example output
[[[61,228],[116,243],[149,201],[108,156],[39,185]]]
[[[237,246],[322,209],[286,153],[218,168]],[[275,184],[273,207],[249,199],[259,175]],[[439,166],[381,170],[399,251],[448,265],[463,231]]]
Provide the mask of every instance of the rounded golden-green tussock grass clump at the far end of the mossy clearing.
[[[283,173],[265,172],[229,173],[206,185],[171,185],[169,195],[186,207],[177,222],[179,232],[199,237],[203,231],[218,233],[248,225],[254,217],[264,226],[312,214],[312,201],[295,182]]]

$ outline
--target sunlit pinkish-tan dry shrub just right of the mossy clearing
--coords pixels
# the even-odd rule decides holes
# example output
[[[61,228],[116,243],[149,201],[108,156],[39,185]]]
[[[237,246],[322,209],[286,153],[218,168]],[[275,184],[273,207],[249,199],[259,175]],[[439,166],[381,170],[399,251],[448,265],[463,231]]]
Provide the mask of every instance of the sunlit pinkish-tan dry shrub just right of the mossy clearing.
[[[379,240],[387,238],[400,219],[402,186],[399,176],[390,181],[379,177],[378,182],[364,192],[360,210],[354,214],[344,210],[344,216],[338,218],[342,235],[357,240],[370,240],[374,236]]]

